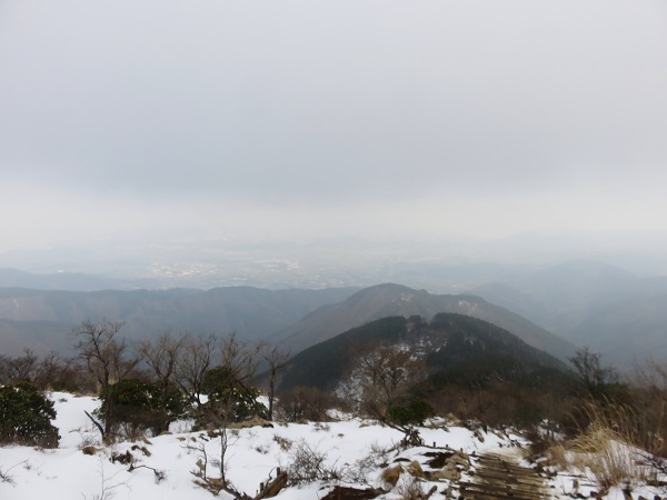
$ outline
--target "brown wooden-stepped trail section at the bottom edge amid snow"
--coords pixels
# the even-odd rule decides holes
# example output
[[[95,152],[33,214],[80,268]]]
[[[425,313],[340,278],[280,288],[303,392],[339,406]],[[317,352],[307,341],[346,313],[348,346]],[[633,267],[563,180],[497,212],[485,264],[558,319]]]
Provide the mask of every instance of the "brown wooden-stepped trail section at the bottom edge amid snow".
[[[532,469],[519,466],[511,457],[484,453],[476,461],[471,481],[460,481],[466,500],[549,499],[549,488]]]

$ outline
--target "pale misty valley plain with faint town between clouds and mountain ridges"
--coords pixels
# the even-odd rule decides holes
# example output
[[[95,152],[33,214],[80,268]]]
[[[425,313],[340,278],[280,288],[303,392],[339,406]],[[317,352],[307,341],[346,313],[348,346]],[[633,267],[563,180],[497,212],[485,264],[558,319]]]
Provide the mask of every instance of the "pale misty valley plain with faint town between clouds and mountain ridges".
[[[365,288],[401,283],[460,293],[563,262],[593,259],[636,276],[667,276],[664,233],[527,232],[506,238],[424,238],[410,231],[247,238],[178,233],[0,252],[1,287],[72,291],[250,286],[270,289]],[[20,274],[19,271],[31,274]]]

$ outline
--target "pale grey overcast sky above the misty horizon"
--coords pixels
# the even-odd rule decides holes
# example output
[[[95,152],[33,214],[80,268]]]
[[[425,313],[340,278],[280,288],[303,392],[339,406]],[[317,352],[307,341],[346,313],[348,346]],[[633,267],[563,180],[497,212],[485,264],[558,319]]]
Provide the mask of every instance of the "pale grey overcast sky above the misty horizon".
[[[0,251],[667,230],[661,1],[0,0]]]

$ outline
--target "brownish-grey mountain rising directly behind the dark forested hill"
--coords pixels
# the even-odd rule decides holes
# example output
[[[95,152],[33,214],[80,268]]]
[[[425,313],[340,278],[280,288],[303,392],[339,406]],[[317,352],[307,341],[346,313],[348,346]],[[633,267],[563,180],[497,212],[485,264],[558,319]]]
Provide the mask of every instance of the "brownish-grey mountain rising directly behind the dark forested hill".
[[[420,316],[429,321],[439,312],[460,313],[497,324],[560,359],[576,351],[573,343],[479,297],[432,294],[395,283],[369,287],[340,303],[323,306],[269,340],[296,353],[380,318]]]

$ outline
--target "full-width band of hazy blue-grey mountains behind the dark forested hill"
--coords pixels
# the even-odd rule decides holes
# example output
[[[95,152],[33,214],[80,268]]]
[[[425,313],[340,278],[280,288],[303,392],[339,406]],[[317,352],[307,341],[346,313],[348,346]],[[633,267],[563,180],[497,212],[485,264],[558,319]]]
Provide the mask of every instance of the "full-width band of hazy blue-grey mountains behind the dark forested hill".
[[[450,276],[464,281],[489,273],[496,279],[455,294],[398,283],[317,290],[150,290],[139,288],[147,284],[140,279],[3,269],[0,338],[9,354],[24,348],[38,353],[67,351],[74,326],[110,319],[125,321],[122,332],[131,339],[166,331],[236,331],[246,339],[277,343],[293,354],[380,318],[421,316],[430,320],[439,312],[454,312],[494,323],[560,359],[567,359],[577,347],[590,347],[607,361],[623,366],[649,356],[667,358],[667,278],[639,277],[598,260],[539,269],[502,264],[452,269]]]

